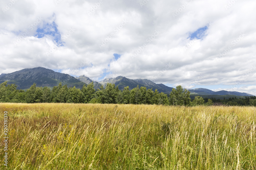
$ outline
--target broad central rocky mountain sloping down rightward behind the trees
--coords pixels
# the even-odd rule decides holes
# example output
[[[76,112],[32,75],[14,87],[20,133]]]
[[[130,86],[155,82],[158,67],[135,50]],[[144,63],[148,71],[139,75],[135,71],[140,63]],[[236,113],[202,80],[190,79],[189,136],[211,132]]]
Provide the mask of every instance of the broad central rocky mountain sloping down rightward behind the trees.
[[[103,81],[100,82],[104,87],[106,86],[107,83],[113,83],[115,86],[118,86],[120,90],[123,90],[124,87],[129,86],[129,89],[133,89],[139,85],[139,87],[146,87],[147,89],[152,88],[152,90],[157,89],[160,93],[170,93],[172,90],[172,87],[165,86],[163,84],[156,84],[150,80],[147,79],[128,79],[123,76],[118,76],[116,78],[108,78],[104,79]]]

